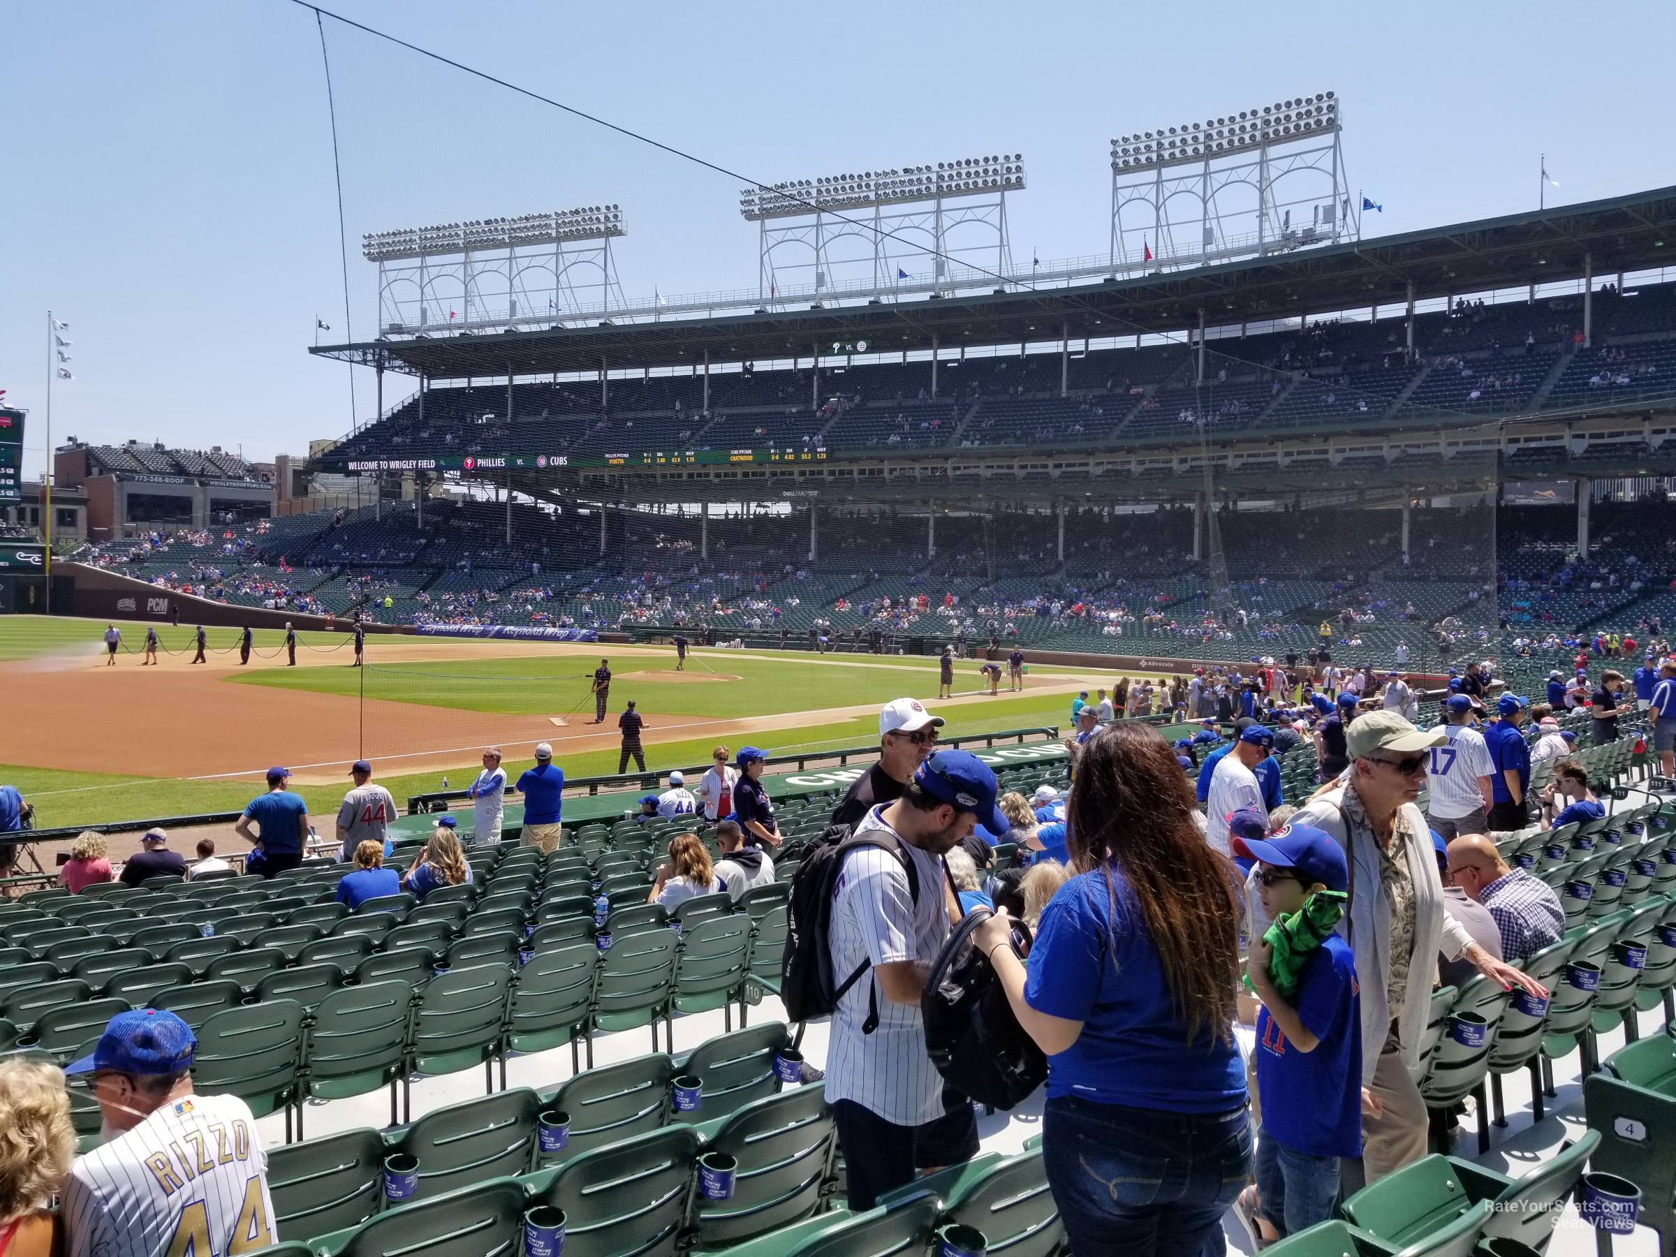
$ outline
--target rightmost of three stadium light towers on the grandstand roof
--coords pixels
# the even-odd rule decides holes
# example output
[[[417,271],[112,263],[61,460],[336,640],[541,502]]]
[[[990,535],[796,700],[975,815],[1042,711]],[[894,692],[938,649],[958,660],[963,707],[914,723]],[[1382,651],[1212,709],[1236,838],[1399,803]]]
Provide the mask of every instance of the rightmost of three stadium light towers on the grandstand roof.
[[[1111,141],[1111,270],[1202,266],[1359,235],[1334,92]]]

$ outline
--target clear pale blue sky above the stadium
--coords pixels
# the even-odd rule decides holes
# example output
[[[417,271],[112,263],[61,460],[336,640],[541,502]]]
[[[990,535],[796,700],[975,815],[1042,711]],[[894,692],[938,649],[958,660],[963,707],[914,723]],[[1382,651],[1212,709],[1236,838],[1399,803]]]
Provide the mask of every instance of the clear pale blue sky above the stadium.
[[[340,0],[339,12],[776,181],[1022,151],[1014,260],[1103,251],[1106,149],[1130,129],[1332,89],[1364,233],[1676,183],[1676,7],[1411,3],[627,3]],[[1272,18],[1257,17],[1272,12]],[[1282,20],[1282,13],[1292,17]],[[1188,17],[1190,13],[1190,17]],[[345,218],[359,233],[617,201],[630,295],[756,282],[737,181],[328,27]],[[287,0],[59,0],[3,22],[0,387],[44,459],[45,310],[77,379],[54,437],[303,453],[350,427],[320,39]],[[1601,55],[1591,57],[1594,49]],[[1582,55],[1579,55],[1582,54]],[[350,255],[352,330],[370,266]],[[362,419],[370,375],[357,380]]]

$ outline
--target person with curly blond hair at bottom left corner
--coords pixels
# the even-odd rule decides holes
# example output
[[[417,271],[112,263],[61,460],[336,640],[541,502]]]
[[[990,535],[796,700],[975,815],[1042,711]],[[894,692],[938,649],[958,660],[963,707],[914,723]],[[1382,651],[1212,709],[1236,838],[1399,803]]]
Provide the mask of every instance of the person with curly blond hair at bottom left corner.
[[[64,1215],[49,1205],[75,1160],[64,1073],[50,1061],[0,1061],[0,1254],[62,1252]]]

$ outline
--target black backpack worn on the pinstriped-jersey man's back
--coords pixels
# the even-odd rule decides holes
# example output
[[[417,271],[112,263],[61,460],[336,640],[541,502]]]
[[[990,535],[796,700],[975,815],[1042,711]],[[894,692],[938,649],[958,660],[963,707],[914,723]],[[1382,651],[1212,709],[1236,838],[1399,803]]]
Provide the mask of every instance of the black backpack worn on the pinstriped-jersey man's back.
[[[833,974],[831,939],[833,897],[845,856],[858,846],[877,846],[890,851],[908,875],[908,893],[920,902],[920,882],[913,860],[890,830],[868,830],[853,835],[848,825],[828,825],[803,851],[803,863],[791,877],[791,902],[786,907],[786,952],[779,969],[779,1001],[786,1006],[788,1021],[830,1017],[838,1001],[872,965],[861,960],[853,974],[838,979]],[[878,1026],[878,992],[873,992],[868,1017],[861,1031],[872,1034]]]

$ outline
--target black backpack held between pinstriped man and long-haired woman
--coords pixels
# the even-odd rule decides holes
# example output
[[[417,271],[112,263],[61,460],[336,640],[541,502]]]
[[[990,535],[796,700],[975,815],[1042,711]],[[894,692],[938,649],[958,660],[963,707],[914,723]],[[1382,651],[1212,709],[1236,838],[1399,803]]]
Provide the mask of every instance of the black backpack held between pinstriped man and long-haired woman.
[[[1046,1081],[1048,1056],[1019,1026],[989,957],[972,947],[972,930],[992,915],[972,908],[955,925],[925,982],[920,1014],[925,1048],[944,1081],[980,1104],[1009,1110]],[[1027,954],[1029,927],[1012,925]]]

